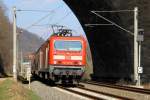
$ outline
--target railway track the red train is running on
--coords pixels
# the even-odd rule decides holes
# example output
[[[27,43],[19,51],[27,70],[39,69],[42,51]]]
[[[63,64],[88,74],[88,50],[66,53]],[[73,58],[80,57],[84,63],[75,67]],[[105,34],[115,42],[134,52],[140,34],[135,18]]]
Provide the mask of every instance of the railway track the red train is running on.
[[[74,87],[74,88],[58,86],[58,88],[66,90],[73,94],[86,97],[88,99],[92,99],[92,100],[131,100],[130,98],[112,95],[112,94],[104,93],[104,92],[99,92],[99,91],[87,89],[81,86]]]

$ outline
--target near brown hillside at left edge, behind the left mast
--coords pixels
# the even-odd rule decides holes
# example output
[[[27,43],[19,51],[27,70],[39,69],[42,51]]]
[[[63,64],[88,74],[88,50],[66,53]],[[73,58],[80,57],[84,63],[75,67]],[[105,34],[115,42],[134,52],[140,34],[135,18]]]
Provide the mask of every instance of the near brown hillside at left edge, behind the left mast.
[[[11,72],[12,65],[12,28],[5,15],[5,7],[0,1],[0,73]],[[4,68],[5,67],[5,68]],[[9,70],[10,69],[10,70]]]

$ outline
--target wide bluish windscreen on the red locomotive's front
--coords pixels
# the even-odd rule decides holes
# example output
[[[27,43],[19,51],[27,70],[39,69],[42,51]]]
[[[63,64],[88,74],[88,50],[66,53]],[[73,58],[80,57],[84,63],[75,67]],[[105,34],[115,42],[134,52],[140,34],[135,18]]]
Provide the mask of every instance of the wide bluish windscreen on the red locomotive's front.
[[[82,44],[80,41],[55,41],[54,47],[56,50],[81,51]]]

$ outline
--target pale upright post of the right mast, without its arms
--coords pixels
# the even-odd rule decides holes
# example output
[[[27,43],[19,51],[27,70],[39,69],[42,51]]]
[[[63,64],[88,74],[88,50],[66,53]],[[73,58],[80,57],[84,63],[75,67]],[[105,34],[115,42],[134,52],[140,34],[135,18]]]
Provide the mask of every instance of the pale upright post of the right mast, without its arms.
[[[134,81],[138,83],[138,8],[134,8]]]

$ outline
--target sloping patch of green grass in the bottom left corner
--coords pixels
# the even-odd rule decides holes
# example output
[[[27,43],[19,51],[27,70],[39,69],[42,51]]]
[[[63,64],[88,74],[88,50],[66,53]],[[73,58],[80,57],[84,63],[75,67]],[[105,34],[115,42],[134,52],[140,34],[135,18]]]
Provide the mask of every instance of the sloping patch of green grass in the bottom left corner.
[[[0,100],[40,100],[40,97],[19,83],[6,79],[0,83]]]

